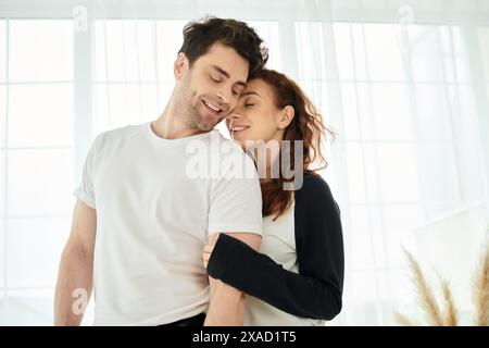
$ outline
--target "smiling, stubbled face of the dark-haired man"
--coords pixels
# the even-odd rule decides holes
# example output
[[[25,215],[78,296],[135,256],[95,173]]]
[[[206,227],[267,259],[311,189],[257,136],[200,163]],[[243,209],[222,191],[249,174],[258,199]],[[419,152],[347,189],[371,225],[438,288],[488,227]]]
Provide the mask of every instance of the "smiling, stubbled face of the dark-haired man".
[[[237,105],[246,87],[249,63],[235,49],[220,42],[199,57],[190,69],[185,58],[187,67],[183,67],[181,75],[177,72],[179,59],[175,70],[179,85],[177,100],[185,109],[184,122],[201,132],[211,130]]]

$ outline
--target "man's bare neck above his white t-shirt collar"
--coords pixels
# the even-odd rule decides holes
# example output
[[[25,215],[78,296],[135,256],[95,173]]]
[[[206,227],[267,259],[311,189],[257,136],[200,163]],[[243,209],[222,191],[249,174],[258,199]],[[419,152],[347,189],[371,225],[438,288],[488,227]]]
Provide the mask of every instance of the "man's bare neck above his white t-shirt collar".
[[[164,139],[179,139],[203,133],[197,127],[190,127],[184,122],[175,103],[171,100],[156,121],[151,123],[154,134]]]

